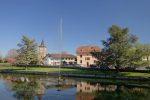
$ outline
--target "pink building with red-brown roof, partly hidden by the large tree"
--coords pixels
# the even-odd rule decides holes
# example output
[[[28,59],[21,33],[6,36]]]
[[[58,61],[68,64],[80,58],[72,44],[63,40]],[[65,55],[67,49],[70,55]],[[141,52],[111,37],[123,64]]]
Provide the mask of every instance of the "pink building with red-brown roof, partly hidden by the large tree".
[[[95,65],[97,59],[91,55],[91,52],[100,52],[101,49],[98,46],[81,46],[76,49],[77,64],[82,67],[89,67]]]

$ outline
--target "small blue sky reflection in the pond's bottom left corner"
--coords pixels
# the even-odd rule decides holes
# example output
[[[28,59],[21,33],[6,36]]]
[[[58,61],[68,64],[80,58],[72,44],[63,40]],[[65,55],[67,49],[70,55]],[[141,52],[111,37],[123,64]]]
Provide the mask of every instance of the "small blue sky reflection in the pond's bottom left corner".
[[[6,89],[4,81],[0,80],[0,100],[16,100],[13,92]]]

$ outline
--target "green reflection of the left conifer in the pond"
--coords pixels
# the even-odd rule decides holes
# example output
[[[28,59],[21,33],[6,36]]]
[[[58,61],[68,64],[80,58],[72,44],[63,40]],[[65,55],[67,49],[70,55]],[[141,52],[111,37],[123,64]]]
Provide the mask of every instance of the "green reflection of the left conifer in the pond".
[[[17,99],[32,100],[37,95],[41,100],[45,88],[39,81],[13,82],[12,90],[16,91],[14,96]]]

